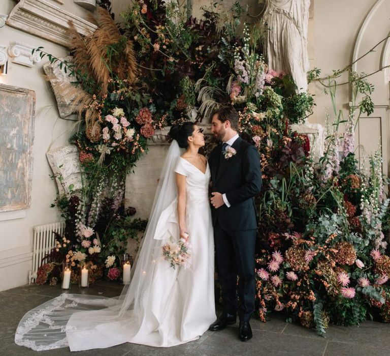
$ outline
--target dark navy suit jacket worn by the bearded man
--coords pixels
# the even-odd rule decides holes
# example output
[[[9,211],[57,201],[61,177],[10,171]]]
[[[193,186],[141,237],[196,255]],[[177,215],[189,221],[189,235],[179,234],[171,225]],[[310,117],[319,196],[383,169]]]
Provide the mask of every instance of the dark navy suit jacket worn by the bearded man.
[[[211,190],[225,193],[231,204],[215,209],[211,206],[213,224],[226,231],[242,231],[257,228],[254,196],[262,188],[260,158],[255,147],[239,137],[232,147],[236,155],[225,159],[221,144],[215,147],[209,158]]]

